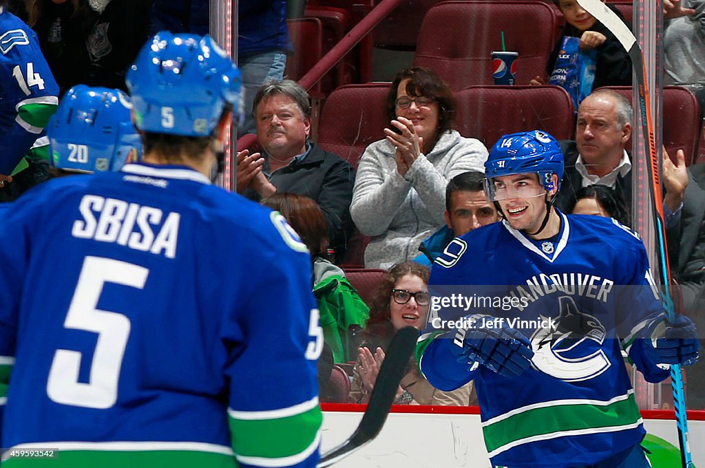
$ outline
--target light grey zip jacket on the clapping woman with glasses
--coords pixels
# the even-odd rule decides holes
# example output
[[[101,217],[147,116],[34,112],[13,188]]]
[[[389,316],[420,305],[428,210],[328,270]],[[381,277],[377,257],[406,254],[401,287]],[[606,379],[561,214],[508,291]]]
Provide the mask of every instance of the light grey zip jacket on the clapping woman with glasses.
[[[487,154],[482,142],[451,130],[402,177],[394,147],[387,140],[370,144],[360,159],[350,204],[357,229],[374,236],[364,266],[388,269],[416,257],[419,243],[445,223],[448,180],[467,171],[484,173]]]

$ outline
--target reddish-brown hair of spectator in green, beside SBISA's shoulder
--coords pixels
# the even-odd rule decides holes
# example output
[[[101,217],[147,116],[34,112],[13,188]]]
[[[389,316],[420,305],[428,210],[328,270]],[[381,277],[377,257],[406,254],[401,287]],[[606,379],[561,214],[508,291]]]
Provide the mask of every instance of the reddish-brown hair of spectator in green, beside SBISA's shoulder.
[[[322,257],[328,248],[328,221],[318,204],[305,195],[277,193],[262,200],[279,211],[308,247],[311,258]]]

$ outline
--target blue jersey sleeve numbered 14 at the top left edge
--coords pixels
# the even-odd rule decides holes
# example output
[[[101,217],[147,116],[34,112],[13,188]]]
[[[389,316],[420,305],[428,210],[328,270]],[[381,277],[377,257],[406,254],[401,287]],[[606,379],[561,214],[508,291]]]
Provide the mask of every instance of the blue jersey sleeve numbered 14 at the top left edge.
[[[30,149],[46,152],[44,127],[58,95],[37,35],[0,6],[0,174],[12,173]]]

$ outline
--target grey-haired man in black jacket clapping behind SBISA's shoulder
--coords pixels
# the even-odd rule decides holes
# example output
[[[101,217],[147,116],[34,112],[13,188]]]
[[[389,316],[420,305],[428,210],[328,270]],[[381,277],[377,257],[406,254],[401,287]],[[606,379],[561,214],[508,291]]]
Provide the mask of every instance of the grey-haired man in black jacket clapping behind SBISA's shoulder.
[[[310,141],[311,106],[297,83],[265,83],[257,90],[252,109],[265,157],[238,152],[238,193],[257,201],[277,192],[314,199],[326,215],[330,245],[339,257],[353,230],[353,166]]]

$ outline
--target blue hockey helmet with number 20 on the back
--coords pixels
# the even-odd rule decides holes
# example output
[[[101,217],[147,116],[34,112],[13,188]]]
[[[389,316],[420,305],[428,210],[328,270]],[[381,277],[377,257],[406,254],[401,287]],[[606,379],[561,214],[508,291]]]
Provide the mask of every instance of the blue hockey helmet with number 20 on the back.
[[[51,165],[65,171],[119,171],[142,158],[130,120],[130,98],[120,90],[76,85],[49,119]]]

